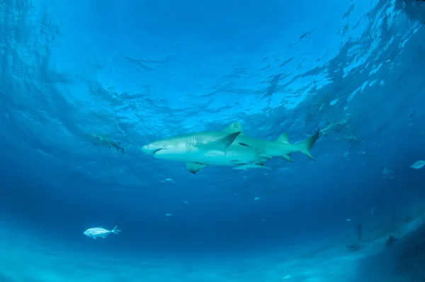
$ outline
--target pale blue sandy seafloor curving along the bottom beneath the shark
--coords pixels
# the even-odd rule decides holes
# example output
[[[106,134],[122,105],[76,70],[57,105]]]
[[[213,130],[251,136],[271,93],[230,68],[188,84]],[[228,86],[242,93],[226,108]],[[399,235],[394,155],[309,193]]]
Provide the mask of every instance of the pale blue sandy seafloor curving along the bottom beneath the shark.
[[[410,210],[413,220],[382,222],[369,228],[362,249],[348,252],[356,236],[315,246],[274,252],[161,258],[106,256],[26,235],[1,225],[0,282],[84,281],[425,281],[425,208]],[[372,231],[373,230],[373,231]],[[28,231],[28,230],[27,230]],[[387,247],[393,235],[399,240]],[[89,238],[87,238],[89,239]]]

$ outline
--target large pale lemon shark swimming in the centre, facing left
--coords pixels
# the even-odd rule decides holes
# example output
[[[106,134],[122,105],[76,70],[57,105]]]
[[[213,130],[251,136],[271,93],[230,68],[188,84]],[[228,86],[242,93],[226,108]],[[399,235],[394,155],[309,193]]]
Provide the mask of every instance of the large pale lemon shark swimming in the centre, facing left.
[[[319,137],[319,130],[306,140],[291,144],[288,133],[276,141],[260,140],[244,135],[239,121],[221,131],[193,132],[159,140],[141,148],[157,159],[186,162],[188,171],[196,174],[210,165],[232,166],[234,169],[263,168],[272,157],[293,162],[290,154],[301,152],[310,159],[310,150]]]

